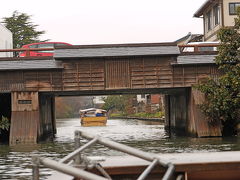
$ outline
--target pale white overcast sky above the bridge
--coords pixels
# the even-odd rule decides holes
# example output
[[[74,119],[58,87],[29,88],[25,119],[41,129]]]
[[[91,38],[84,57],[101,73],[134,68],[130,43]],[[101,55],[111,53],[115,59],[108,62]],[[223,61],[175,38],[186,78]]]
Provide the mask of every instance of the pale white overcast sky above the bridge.
[[[6,0],[0,19],[13,11],[32,15],[41,40],[81,44],[171,42],[202,33],[193,14],[205,0]]]

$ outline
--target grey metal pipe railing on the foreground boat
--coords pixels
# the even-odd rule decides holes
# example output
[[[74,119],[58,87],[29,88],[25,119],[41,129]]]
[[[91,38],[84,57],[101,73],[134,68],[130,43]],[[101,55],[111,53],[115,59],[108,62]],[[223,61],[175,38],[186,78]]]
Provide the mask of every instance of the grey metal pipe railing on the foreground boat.
[[[88,143],[80,147],[80,137],[84,137],[86,139],[90,139]],[[166,162],[162,159],[160,159],[158,156],[154,154],[150,154],[147,152],[143,152],[141,150],[108,140],[106,138],[101,138],[98,136],[94,136],[91,134],[88,134],[83,131],[75,131],[75,148],[76,150],[67,156],[65,156],[63,159],[59,161],[54,161],[48,158],[41,158],[41,157],[34,157],[33,158],[33,180],[39,180],[39,167],[40,165],[44,165],[45,167],[51,168],[53,170],[57,170],[59,172],[77,177],[77,178],[83,178],[87,180],[109,180],[111,177],[107,174],[107,172],[101,167],[99,163],[95,163],[94,167],[99,170],[99,172],[104,176],[99,176],[90,172],[87,172],[83,169],[76,168],[73,166],[70,166],[71,160],[74,160],[74,165],[79,165],[82,163],[86,158],[82,157],[81,152],[85,150],[86,148],[90,147],[93,144],[102,144],[104,146],[107,146],[109,148],[124,152],[126,154],[144,159],[146,161],[151,162],[150,165],[142,172],[142,174],[138,177],[138,180],[144,180],[153,170],[154,167],[157,165],[161,165],[165,168],[167,168],[163,180],[168,180],[172,177],[175,167],[171,162]],[[68,164],[65,164],[69,162]]]

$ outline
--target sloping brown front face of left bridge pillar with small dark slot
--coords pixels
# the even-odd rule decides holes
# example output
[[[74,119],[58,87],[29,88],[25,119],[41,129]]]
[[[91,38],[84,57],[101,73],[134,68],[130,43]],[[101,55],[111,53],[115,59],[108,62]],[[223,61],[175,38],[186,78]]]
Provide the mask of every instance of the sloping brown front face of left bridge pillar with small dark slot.
[[[12,92],[10,144],[37,142],[38,128],[38,92]]]

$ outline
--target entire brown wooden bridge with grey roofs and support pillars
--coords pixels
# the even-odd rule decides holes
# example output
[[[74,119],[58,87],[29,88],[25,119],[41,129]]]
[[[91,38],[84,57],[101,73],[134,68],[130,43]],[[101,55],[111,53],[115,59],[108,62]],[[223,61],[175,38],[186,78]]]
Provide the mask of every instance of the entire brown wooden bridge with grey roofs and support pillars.
[[[55,96],[162,93],[166,127],[221,135],[198,105],[192,86],[217,78],[216,52],[182,53],[173,43],[69,46],[54,57],[0,58],[0,115],[11,119],[10,143],[37,142],[56,132]]]

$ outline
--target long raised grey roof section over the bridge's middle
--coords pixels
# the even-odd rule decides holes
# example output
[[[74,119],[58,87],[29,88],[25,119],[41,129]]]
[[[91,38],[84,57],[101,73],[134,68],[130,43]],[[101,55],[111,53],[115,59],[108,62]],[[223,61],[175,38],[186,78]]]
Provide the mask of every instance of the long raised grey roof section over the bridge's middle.
[[[118,45],[69,46],[55,49],[54,58],[87,58],[87,57],[121,57],[121,56],[153,56],[179,55],[180,51],[173,43],[145,43]]]

